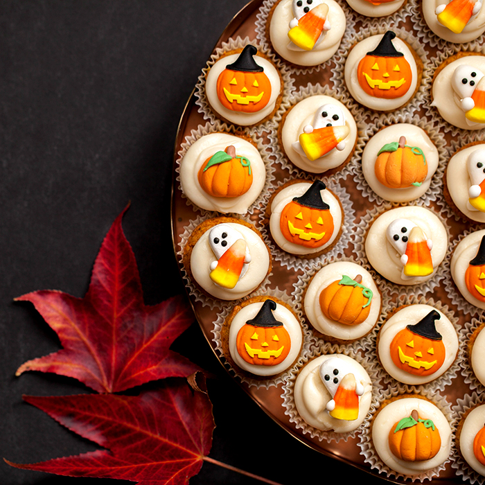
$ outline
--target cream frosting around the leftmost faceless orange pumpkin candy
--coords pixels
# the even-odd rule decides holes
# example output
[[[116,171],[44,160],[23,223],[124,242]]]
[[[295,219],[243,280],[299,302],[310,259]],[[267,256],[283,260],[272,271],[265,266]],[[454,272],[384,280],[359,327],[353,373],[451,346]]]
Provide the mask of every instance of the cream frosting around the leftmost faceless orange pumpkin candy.
[[[238,197],[213,197],[200,186],[197,174],[207,159],[215,152],[224,151],[229,145],[236,148],[236,155],[250,161],[253,182],[249,190]],[[187,150],[180,162],[182,191],[195,205],[208,211],[245,214],[263,190],[266,168],[258,149],[249,141],[227,133],[202,136]]]

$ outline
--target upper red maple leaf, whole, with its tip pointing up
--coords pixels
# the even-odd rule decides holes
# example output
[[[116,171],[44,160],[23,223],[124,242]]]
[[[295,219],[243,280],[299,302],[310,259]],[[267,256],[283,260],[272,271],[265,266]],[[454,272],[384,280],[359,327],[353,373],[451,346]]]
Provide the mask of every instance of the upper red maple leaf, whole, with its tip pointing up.
[[[145,306],[138,267],[118,215],[103,240],[84,298],[44,290],[25,294],[55,330],[63,349],[17,370],[76,378],[100,393],[200,370],[170,344],[194,321],[182,297]]]

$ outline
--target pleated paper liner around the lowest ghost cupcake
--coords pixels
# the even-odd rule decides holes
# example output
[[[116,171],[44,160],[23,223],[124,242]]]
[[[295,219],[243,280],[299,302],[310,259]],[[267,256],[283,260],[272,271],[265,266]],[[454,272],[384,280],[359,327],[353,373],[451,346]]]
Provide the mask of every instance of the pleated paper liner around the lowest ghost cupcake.
[[[316,427],[309,425],[306,423],[306,421],[303,421],[303,418],[301,418],[299,415],[297,406],[294,403],[294,383],[297,379],[299,371],[301,371],[301,369],[313,358],[316,358],[319,355],[333,353],[342,353],[356,360],[367,371],[372,382],[372,400],[371,407],[367,413],[367,418],[364,419],[363,423],[356,430],[347,433],[337,433],[333,430],[319,430]],[[360,433],[364,425],[366,425],[366,423],[369,421],[369,416],[376,410],[378,405],[378,396],[382,395],[382,386],[380,385],[380,369],[378,369],[376,364],[372,362],[369,356],[367,356],[366,353],[355,351],[349,346],[340,346],[337,344],[330,344],[329,342],[320,342],[319,346],[315,346],[311,352],[305,355],[299,365],[292,369],[290,376],[288,377],[285,385],[283,385],[282,389],[283,394],[281,394],[281,397],[283,398],[285,414],[290,416],[290,423],[294,423],[297,430],[301,430],[303,434],[309,434],[312,439],[317,437],[319,441],[336,441],[337,443],[341,440],[347,441],[349,438],[354,438],[358,433]]]

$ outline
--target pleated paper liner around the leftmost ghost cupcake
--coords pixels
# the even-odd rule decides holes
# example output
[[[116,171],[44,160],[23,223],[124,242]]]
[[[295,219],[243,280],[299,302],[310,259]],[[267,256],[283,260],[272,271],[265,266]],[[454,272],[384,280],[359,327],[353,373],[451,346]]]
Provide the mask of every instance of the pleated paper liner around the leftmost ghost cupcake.
[[[202,303],[202,306],[208,306],[209,308],[211,308],[211,310],[213,310],[213,308],[222,308],[222,306],[226,305],[228,303],[228,301],[218,299],[218,298],[215,298],[215,297],[211,297],[209,294],[202,293],[199,290],[199,288],[197,288],[197,285],[195,285],[195,283],[192,281],[192,279],[188,276],[187,270],[184,267],[184,265],[182,264],[182,258],[184,257],[184,248],[185,248],[185,245],[188,241],[188,238],[190,238],[195,227],[197,227],[199,224],[204,222],[204,220],[206,220],[206,219],[211,219],[211,218],[204,217],[202,215],[198,215],[197,218],[188,221],[188,224],[184,227],[184,232],[180,235],[180,238],[182,240],[180,241],[179,250],[177,251],[176,256],[177,256],[178,261],[180,263],[180,266],[182,268],[182,270],[181,270],[182,279],[184,279],[186,290],[187,290],[189,296],[194,301],[199,301],[200,303]],[[243,216],[243,217],[238,216],[238,219],[244,220],[245,222],[249,222],[249,224],[252,224],[254,226],[254,222],[252,222],[252,220],[250,220],[249,218],[247,218],[245,216]],[[256,229],[258,229],[258,227],[256,227]],[[265,279],[263,279],[263,281],[258,286],[258,288],[256,288],[256,290],[254,290],[254,292],[256,292],[258,290],[264,291],[265,288],[267,287],[267,285],[270,284],[271,276],[272,276],[272,272],[270,271],[265,276]],[[239,301],[243,301],[244,299],[252,296],[254,294],[254,292],[251,292],[246,297],[231,300],[229,303],[237,304]]]

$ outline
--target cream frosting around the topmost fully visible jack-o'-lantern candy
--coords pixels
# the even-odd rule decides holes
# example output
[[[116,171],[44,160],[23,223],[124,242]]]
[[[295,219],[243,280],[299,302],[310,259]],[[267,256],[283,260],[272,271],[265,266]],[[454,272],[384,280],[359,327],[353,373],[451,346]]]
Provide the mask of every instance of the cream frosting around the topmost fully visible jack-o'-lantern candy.
[[[396,48],[396,51],[403,53],[405,60],[409,62],[409,66],[411,67],[411,85],[405,95],[394,99],[377,98],[376,96],[367,94],[359,84],[357,68],[360,60],[364,58],[368,52],[373,51],[373,49],[378,46],[382,37],[383,35],[381,34],[371,35],[371,37],[362,39],[358,44],[353,46],[345,61],[344,77],[347,88],[358,103],[370,109],[375,109],[376,111],[391,111],[405,105],[414,96],[414,91],[418,84],[418,68],[416,66],[416,61],[414,60],[414,55],[407,44],[398,37],[394,37],[394,39],[392,39],[392,44]]]

